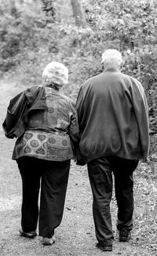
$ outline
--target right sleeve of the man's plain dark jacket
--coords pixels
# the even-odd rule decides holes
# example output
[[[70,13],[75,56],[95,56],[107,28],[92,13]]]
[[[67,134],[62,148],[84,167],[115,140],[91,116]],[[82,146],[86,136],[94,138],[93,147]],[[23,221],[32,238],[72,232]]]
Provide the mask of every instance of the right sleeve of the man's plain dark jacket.
[[[133,79],[131,87],[133,109],[137,119],[140,132],[141,148],[143,159],[147,159],[149,150],[149,123],[148,123],[148,104],[141,82]]]

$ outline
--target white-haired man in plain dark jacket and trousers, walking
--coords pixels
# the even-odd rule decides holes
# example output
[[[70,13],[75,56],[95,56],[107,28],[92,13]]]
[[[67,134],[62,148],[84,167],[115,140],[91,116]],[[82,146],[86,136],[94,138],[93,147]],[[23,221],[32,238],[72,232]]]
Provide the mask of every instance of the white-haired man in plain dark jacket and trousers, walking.
[[[119,241],[133,229],[133,170],[148,156],[148,106],[141,83],[120,71],[122,55],[108,49],[104,71],[80,88],[77,112],[81,140],[78,163],[87,163],[93,192],[97,247],[112,251],[112,173],[118,205]]]

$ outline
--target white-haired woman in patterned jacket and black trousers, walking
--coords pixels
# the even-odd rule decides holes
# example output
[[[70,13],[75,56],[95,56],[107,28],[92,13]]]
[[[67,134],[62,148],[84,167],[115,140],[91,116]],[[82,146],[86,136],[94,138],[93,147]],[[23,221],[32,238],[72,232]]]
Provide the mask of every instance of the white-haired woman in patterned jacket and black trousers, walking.
[[[38,87],[40,93],[36,87],[24,92],[27,99],[34,98],[35,102],[34,108],[27,111],[27,126],[16,140],[13,159],[23,188],[20,235],[37,236],[38,222],[42,243],[51,245],[55,241],[54,229],[63,215],[70,162],[74,158],[71,143],[77,143],[79,129],[74,105],[59,91],[68,82],[68,68],[53,61],[46,65],[42,76],[45,85]]]

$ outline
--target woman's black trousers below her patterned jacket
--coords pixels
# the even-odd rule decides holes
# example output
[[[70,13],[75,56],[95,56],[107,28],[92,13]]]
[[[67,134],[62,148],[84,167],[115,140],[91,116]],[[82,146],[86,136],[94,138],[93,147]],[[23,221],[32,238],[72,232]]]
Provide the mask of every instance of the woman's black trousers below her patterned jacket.
[[[29,156],[17,159],[17,164],[23,188],[22,229],[24,232],[35,231],[38,223],[39,236],[50,238],[63,216],[70,160],[55,162]]]

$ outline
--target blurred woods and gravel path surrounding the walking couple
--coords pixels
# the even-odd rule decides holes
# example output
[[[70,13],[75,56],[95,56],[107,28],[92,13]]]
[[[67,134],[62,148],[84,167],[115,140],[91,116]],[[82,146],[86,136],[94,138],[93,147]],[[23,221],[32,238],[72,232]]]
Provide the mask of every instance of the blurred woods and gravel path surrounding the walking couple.
[[[0,123],[11,97],[28,86],[40,85],[43,68],[52,60],[68,67],[69,82],[62,90],[76,101],[82,83],[102,71],[101,54],[108,48],[121,51],[122,72],[144,86],[151,135],[148,163],[141,162],[134,174],[133,239],[124,246],[115,240],[114,255],[156,256],[157,0],[0,0]],[[16,163],[11,159],[14,143],[5,138],[0,126],[1,256],[100,255],[93,245],[86,166],[75,163],[64,220],[57,233],[59,242],[53,252],[43,249],[39,240],[28,243],[17,235],[21,188]],[[114,195],[111,214],[115,224]]]

